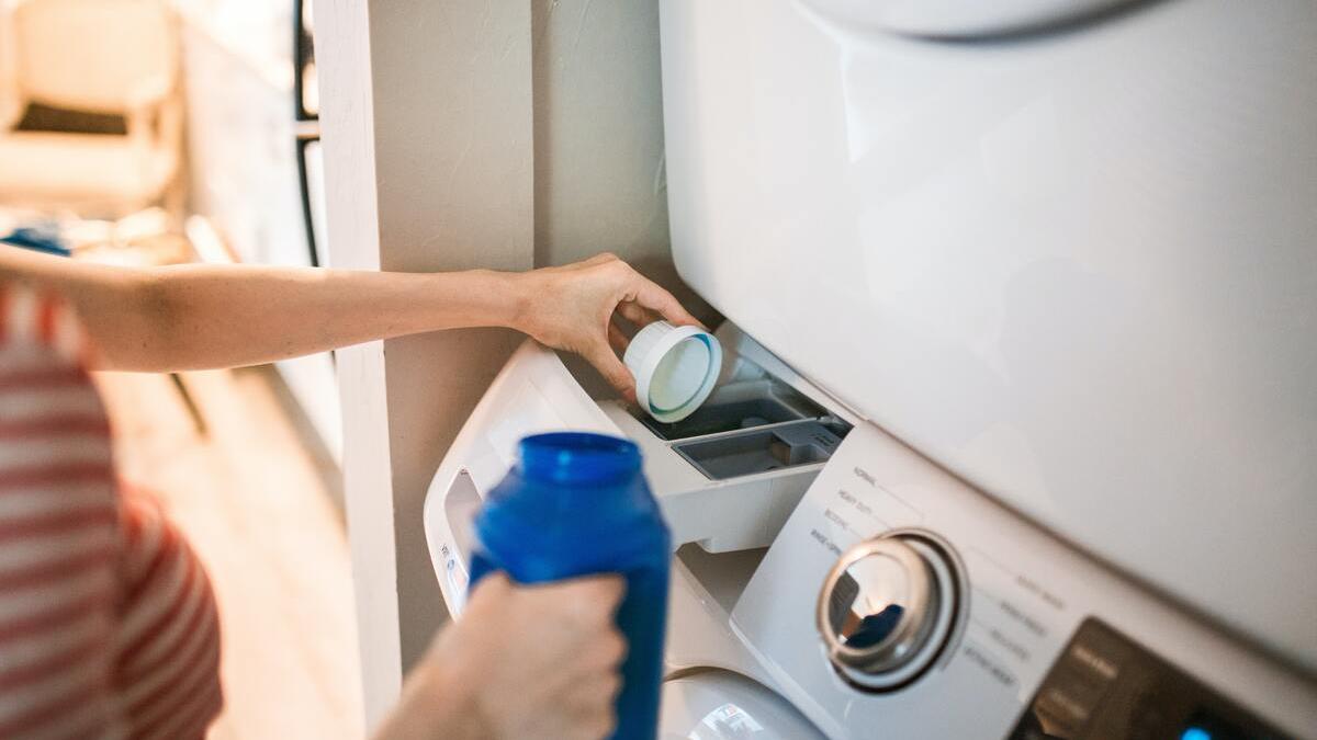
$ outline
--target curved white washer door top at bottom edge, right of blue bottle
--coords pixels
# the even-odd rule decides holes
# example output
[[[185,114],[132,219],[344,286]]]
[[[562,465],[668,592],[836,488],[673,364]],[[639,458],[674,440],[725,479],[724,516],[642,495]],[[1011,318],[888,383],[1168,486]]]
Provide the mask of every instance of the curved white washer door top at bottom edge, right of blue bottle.
[[[826,740],[805,715],[761,683],[726,670],[664,682],[662,740]]]

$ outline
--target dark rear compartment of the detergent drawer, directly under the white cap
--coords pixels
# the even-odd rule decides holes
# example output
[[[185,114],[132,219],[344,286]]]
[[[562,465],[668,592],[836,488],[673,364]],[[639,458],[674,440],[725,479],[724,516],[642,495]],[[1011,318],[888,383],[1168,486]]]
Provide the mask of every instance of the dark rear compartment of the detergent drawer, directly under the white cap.
[[[648,413],[635,413],[651,432],[666,441],[755,429],[824,415],[827,412],[823,408],[795,388],[766,378],[723,386],[715,390],[698,411],[672,424],[664,424]]]

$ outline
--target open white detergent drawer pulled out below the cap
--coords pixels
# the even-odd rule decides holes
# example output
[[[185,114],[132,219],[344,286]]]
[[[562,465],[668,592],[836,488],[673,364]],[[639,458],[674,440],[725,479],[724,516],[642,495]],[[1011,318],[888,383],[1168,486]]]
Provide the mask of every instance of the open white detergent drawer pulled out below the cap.
[[[577,357],[527,341],[495,378],[431,482],[425,536],[449,608],[466,591],[471,516],[539,432],[593,431],[640,445],[673,548],[764,548],[855,421],[731,324],[714,392],[664,424],[616,398]]]

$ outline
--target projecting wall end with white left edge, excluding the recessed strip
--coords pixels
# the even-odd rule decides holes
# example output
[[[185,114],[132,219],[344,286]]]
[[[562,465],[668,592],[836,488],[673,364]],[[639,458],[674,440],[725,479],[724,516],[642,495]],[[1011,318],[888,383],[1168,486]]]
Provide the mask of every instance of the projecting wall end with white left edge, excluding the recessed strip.
[[[529,267],[529,7],[321,0],[315,12],[335,265]],[[340,353],[371,724],[445,618],[421,529],[425,486],[515,342],[510,332],[445,332]]]

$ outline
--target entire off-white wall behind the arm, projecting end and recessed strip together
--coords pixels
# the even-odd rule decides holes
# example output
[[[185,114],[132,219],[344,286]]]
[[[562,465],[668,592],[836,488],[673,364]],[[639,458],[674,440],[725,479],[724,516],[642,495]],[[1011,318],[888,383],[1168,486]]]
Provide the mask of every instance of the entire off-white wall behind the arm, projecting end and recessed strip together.
[[[607,249],[680,288],[656,0],[317,0],[315,12],[336,266],[528,269]],[[446,616],[425,487],[518,341],[445,332],[340,353],[371,722]]]

